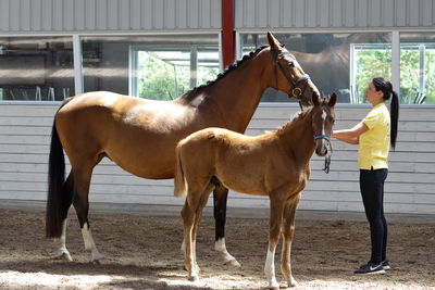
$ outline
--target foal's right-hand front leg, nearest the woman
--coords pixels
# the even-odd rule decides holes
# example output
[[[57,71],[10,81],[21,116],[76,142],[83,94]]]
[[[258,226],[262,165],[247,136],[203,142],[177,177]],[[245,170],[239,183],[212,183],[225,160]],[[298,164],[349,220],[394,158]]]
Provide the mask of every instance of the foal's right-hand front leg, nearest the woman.
[[[295,235],[295,215],[296,207],[298,206],[300,193],[298,193],[293,200],[288,201],[284,209],[284,223],[283,223],[283,251],[281,256],[281,272],[287,280],[288,287],[297,286],[297,281],[291,275],[290,266],[290,252],[291,241]]]

